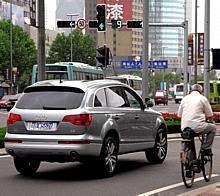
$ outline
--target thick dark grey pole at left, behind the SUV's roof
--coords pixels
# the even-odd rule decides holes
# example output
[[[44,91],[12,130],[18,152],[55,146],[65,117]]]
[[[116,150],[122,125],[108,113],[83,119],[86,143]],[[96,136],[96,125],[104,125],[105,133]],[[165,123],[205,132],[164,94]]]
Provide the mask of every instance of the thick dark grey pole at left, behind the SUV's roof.
[[[37,1],[38,13],[38,81],[45,80],[45,21],[44,0]]]

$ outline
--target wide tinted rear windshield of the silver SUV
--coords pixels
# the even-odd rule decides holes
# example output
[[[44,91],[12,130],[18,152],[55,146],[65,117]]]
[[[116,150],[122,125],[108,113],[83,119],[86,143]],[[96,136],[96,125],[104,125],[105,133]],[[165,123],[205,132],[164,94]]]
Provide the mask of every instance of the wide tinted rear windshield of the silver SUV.
[[[81,105],[85,92],[69,87],[31,87],[16,104],[19,109],[67,110]]]

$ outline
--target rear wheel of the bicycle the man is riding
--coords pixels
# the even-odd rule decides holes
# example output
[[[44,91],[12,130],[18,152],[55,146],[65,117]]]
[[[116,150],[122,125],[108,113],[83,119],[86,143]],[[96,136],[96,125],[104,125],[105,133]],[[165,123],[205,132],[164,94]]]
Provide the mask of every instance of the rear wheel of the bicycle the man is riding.
[[[192,171],[192,167],[189,164],[189,159],[187,158],[188,152],[186,153],[182,152],[182,153],[183,153],[182,158],[181,158],[182,179],[183,179],[184,185],[187,188],[190,188],[192,187],[193,182],[194,182],[195,172]]]

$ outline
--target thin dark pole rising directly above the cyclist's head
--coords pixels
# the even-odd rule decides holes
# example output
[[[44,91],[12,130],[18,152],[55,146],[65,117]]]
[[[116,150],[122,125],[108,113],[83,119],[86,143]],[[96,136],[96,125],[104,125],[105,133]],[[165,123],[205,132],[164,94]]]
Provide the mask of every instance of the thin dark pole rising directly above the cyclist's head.
[[[194,61],[194,84],[197,83],[197,65],[198,65],[198,33],[197,33],[197,3],[195,0],[195,61]]]

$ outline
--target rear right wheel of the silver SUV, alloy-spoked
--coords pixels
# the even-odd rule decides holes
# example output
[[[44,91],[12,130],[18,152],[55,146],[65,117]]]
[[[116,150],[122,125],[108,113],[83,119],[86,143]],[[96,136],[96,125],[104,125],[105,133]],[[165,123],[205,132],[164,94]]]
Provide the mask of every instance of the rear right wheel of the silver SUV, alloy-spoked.
[[[104,177],[111,177],[118,162],[118,143],[115,138],[108,136],[103,143],[100,164]]]

